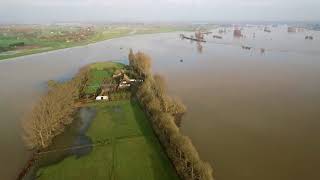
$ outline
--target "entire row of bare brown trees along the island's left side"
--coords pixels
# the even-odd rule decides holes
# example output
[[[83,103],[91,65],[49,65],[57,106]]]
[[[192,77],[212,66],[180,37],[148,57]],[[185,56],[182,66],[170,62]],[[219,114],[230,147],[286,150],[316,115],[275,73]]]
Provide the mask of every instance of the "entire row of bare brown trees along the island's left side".
[[[48,147],[52,139],[72,122],[75,101],[82,94],[88,72],[88,67],[84,67],[68,82],[48,82],[48,93],[40,98],[22,122],[23,139],[30,149]]]

